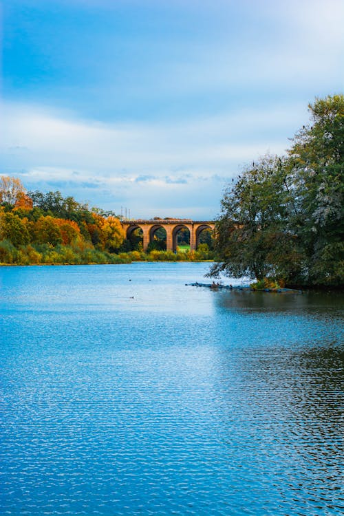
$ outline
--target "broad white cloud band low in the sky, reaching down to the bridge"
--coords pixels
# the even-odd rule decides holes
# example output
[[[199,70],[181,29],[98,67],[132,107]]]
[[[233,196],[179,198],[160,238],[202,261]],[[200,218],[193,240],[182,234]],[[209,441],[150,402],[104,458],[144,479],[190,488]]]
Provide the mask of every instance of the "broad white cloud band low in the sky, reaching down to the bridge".
[[[239,164],[267,150],[283,152],[287,136],[305,120],[302,111],[295,105],[174,125],[105,124],[8,103],[1,170],[20,175],[30,189],[60,189],[117,211],[129,204],[135,216],[168,209],[169,215],[214,217]]]

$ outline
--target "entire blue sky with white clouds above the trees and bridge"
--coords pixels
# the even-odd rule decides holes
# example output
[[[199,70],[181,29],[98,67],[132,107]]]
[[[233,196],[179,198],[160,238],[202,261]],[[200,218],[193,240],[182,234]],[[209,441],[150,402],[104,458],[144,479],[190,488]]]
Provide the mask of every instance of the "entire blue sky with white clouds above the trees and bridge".
[[[132,218],[215,219],[343,92],[342,0],[0,5],[0,175]]]

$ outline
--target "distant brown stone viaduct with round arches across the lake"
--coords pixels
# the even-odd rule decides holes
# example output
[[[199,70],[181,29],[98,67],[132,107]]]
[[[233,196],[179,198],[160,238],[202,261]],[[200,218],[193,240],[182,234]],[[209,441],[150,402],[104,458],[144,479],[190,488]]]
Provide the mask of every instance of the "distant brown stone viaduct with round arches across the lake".
[[[151,241],[154,240],[155,231],[164,228],[166,231],[166,250],[177,250],[177,233],[182,228],[189,229],[190,249],[196,250],[200,244],[200,234],[204,229],[215,229],[214,221],[200,221],[191,219],[151,219],[151,220],[125,220],[122,221],[127,239],[136,229],[142,229],[143,250],[146,251]]]

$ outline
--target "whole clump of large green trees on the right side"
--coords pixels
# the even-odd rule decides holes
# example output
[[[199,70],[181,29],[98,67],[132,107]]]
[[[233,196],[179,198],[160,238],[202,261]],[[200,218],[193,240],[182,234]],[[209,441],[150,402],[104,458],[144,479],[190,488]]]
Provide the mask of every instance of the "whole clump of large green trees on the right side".
[[[211,275],[343,286],[344,96],[308,107],[286,155],[264,155],[226,189]]]

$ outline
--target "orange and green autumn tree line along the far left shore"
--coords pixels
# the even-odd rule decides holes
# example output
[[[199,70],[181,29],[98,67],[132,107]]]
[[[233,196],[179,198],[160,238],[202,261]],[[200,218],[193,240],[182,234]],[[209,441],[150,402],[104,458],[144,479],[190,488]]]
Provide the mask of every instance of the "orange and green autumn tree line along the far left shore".
[[[167,252],[157,239],[142,252],[140,236],[129,241],[114,212],[89,208],[61,192],[26,191],[18,178],[0,177],[0,263],[120,264],[143,260],[203,260],[197,252]]]

